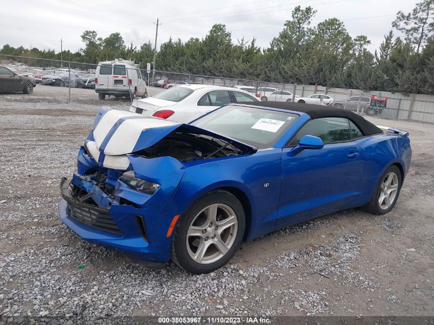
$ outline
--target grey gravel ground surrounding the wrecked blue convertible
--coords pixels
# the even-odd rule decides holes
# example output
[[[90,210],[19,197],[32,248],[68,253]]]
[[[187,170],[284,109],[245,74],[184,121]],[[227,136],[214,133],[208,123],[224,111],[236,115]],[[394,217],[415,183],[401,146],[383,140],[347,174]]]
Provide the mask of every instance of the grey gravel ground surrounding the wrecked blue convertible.
[[[191,275],[173,264],[144,269],[59,220],[59,181],[76,168],[98,108],[0,99],[3,320],[434,315],[432,124],[370,119],[410,132],[412,165],[389,214],[350,209],[284,228],[243,243],[222,269]]]

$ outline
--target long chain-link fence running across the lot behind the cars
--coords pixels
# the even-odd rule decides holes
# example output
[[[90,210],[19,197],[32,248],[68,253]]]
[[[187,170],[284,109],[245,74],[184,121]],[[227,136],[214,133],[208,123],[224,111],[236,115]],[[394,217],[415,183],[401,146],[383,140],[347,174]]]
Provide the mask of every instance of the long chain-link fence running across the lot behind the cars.
[[[434,96],[328,88],[259,80],[148,71],[126,60],[87,64],[0,54],[0,99],[129,105],[182,84],[233,87],[262,101],[327,105],[389,119],[434,122]],[[96,72],[98,70],[98,75]]]

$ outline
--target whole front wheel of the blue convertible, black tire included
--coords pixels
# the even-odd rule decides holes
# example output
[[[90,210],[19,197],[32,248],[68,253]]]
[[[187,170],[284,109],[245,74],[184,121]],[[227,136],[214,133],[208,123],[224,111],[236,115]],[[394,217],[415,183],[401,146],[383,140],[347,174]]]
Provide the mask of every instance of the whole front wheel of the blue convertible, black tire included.
[[[193,274],[215,271],[234,256],[245,228],[238,199],[225,190],[214,190],[194,202],[178,222],[172,260]]]

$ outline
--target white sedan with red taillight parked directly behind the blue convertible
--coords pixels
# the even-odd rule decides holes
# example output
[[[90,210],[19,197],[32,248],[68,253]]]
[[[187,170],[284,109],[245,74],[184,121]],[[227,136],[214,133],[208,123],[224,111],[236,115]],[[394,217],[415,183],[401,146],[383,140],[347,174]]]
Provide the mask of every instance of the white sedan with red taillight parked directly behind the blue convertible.
[[[220,106],[238,102],[258,102],[251,93],[213,85],[181,85],[139,100],[129,110],[161,119],[188,123]]]

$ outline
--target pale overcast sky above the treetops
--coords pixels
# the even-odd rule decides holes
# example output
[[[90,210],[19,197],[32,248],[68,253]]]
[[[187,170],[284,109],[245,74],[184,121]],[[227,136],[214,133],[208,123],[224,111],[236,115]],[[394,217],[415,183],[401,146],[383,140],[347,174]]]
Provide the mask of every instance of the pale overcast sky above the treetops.
[[[344,21],[352,37],[368,36],[372,43],[368,49],[373,52],[391,29],[396,13],[410,12],[416,3],[416,0],[15,0],[1,6],[0,47],[23,45],[57,52],[62,38],[63,49],[74,52],[84,46],[80,35],[86,29],[96,30],[103,38],[120,32],[126,44],[133,42],[139,47],[149,40],[154,43],[154,22],[159,17],[157,46],[171,35],[183,41],[190,37],[201,39],[212,25],[222,23],[232,31],[234,42],[243,36],[249,41],[256,37],[257,45],[265,48],[291,18],[292,9],[300,5],[317,10],[312,23],[336,17]],[[394,33],[399,35],[397,31]]]

